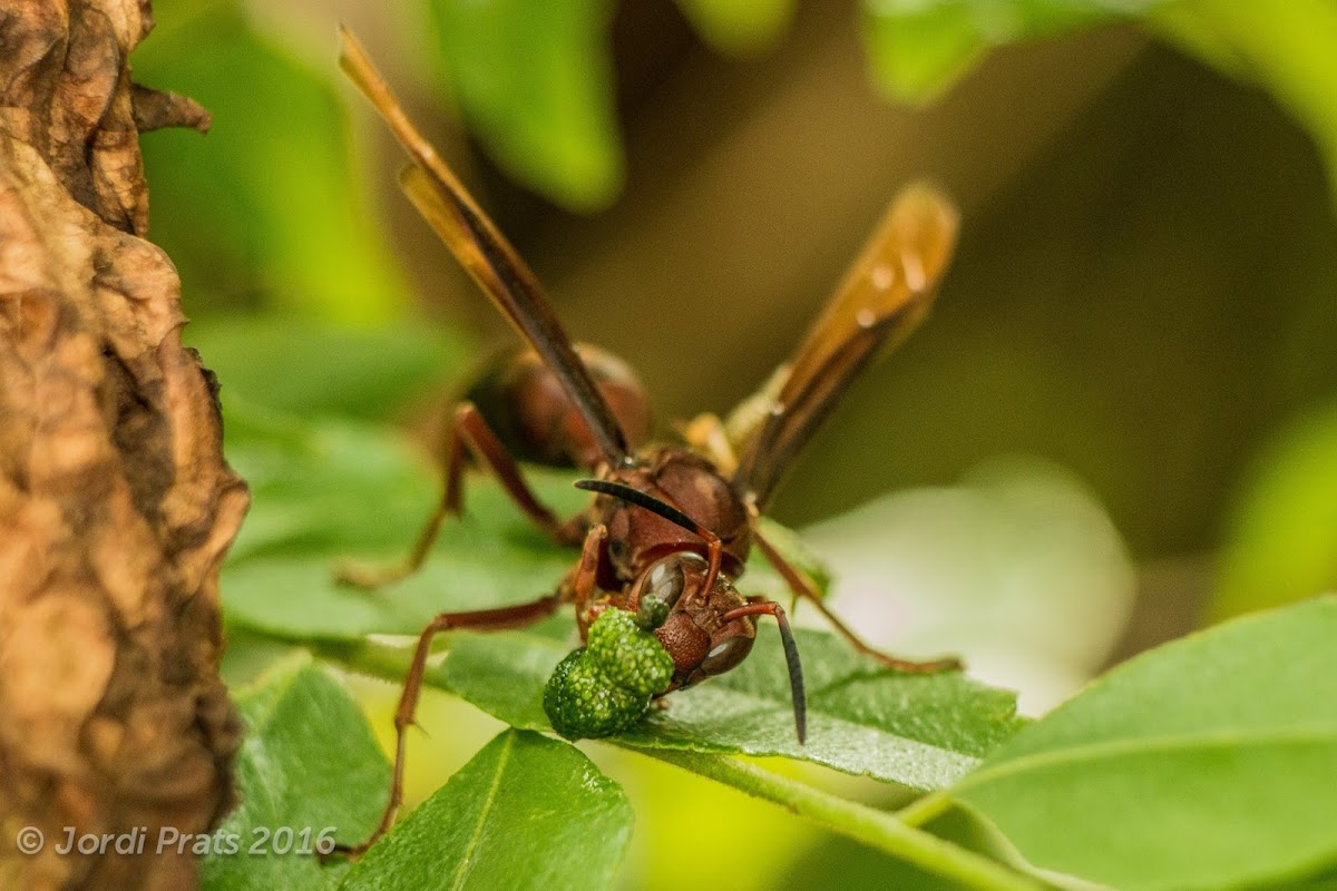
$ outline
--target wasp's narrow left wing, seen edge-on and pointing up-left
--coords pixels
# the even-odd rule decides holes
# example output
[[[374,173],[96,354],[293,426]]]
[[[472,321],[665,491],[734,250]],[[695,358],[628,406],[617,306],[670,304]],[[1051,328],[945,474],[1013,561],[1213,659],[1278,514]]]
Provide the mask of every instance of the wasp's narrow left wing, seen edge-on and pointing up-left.
[[[413,159],[400,175],[404,191],[492,303],[558,375],[603,457],[610,464],[620,462],[627,454],[626,435],[572,349],[537,278],[408,119],[352,32],[341,28],[340,36],[340,65]]]

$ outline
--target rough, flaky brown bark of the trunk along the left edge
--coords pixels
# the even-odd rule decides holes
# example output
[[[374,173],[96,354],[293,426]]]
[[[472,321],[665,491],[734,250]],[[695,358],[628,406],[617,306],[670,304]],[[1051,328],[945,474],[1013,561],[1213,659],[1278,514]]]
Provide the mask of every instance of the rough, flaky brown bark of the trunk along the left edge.
[[[249,494],[180,345],[180,282],[143,239],[139,131],[207,127],[130,83],[150,15],[0,12],[0,888],[191,887],[159,828],[205,832],[233,800],[218,566]],[[147,843],[60,855],[67,827]]]

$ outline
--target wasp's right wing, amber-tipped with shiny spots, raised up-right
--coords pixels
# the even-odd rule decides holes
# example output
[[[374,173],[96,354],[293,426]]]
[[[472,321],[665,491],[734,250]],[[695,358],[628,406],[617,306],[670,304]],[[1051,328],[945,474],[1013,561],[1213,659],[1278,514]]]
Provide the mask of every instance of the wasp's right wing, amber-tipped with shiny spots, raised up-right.
[[[928,313],[956,244],[959,218],[937,190],[906,187],[787,365],[749,402],[735,484],[763,508],[798,450],[850,382]],[[758,410],[755,402],[761,399]],[[749,403],[745,403],[749,405]]]

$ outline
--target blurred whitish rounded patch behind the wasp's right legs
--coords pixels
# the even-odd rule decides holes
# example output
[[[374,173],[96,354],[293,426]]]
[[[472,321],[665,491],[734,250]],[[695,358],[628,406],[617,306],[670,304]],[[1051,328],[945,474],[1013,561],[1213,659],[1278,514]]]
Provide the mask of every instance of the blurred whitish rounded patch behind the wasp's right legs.
[[[1071,473],[1000,458],[961,485],[889,494],[804,530],[836,581],[832,609],[898,656],[952,652],[1042,713],[1106,661],[1132,609],[1134,568]],[[818,625],[800,606],[801,624]]]

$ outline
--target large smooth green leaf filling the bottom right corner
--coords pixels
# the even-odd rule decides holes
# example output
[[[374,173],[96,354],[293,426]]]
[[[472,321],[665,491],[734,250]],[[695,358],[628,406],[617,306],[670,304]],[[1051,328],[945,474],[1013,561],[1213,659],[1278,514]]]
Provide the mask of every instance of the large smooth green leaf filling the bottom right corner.
[[[1324,597],[1144,653],[1019,732],[949,795],[1034,864],[1130,891],[1332,867],[1333,640],[1337,597]]]

